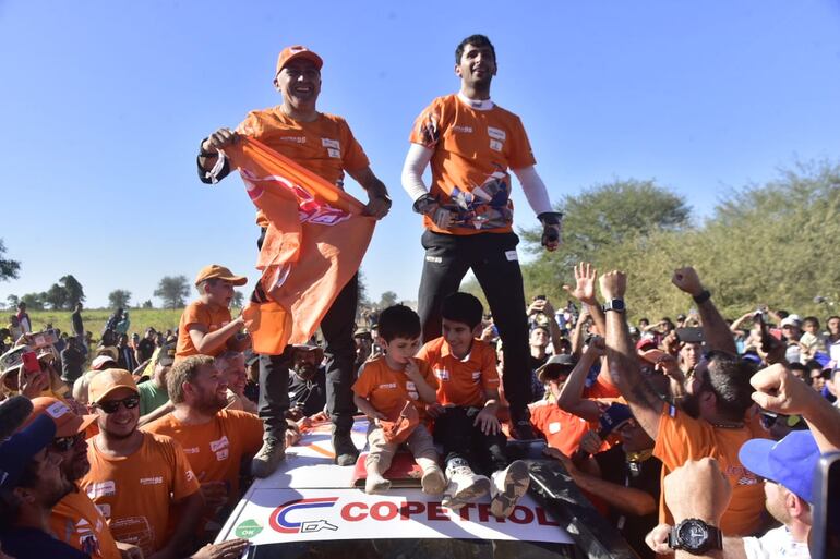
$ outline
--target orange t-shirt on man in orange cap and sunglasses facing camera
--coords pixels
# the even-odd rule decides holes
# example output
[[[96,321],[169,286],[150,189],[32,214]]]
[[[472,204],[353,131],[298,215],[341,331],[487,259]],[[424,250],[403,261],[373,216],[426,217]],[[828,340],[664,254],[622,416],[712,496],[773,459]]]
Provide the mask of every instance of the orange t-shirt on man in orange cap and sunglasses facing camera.
[[[107,457],[92,440],[87,459],[91,471],[79,486],[108,520],[113,538],[141,547],[145,557],[164,547],[171,537],[173,502],[199,490],[181,446],[144,433],[143,445],[130,457]]]

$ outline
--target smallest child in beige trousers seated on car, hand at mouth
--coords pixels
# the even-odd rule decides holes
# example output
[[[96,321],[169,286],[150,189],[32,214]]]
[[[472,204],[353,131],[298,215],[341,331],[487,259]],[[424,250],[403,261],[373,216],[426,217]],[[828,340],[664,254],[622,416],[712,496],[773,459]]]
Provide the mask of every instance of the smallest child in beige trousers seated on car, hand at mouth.
[[[423,424],[425,405],[435,402],[437,380],[425,362],[412,359],[420,349],[420,317],[404,305],[395,305],[380,314],[379,342],[385,354],[365,362],[353,384],[353,402],[371,418],[368,429],[368,458],[364,469],[368,477],[365,493],[381,493],[391,487],[383,474],[391,467],[394,453],[400,446],[386,422],[413,415],[419,420],[410,435],[403,434],[405,443],[423,471],[423,491],[443,493],[445,479],[437,465],[437,452],[432,436]],[[410,410],[409,403],[416,409]],[[408,413],[406,413],[407,410]]]

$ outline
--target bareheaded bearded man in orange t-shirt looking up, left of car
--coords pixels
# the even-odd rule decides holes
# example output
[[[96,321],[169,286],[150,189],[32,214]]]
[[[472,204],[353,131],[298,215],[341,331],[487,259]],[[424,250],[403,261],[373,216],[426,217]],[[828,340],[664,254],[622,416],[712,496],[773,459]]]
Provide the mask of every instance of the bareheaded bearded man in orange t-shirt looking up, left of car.
[[[167,384],[175,410],[143,428],[183,446],[201,483],[205,520],[221,518],[240,497],[240,464],[260,450],[263,422],[251,413],[225,409],[227,380],[207,355],[176,363]],[[205,522],[203,528],[209,532],[214,526]]]

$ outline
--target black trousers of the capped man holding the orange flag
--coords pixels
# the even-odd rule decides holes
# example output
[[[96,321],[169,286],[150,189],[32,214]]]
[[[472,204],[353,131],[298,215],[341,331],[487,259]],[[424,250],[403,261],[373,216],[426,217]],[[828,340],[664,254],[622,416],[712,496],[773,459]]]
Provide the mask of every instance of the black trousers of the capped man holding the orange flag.
[[[263,229],[256,242],[261,248],[264,236]],[[358,300],[359,278],[353,276],[321,320],[321,331],[326,341],[326,411],[336,433],[349,433],[356,413],[351,387],[356,380],[356,343],[352,335]],[[275,436],[283,435],[286,429],[290,355],[288,348],[283,355],[260,355],[259,415],[265,430]]]

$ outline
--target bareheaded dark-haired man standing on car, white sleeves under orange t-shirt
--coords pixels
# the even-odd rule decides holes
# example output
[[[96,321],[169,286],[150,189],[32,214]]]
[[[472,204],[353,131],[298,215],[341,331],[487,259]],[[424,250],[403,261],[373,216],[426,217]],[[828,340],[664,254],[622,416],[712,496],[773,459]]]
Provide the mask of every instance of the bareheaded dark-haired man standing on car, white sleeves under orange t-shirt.
[[[560,244],[561,214],[552,210],[533,168],[536,160],[519,118],[490,100],[496,59],[485,36],[472,35],[458,45],[455,73],[460,92],[434,99],[418,117],[403,169],[403,187],[427,229],[419,292],[423,340],[441,336],[443,299],[457,291],[472,269],[503,341],[504,392],[511,403],[513,434],[532,438],[528,321],[508,171],[517,174],[542,222],[542,244],[549,251]],[[431,192],[422,178],[430,162]]]

